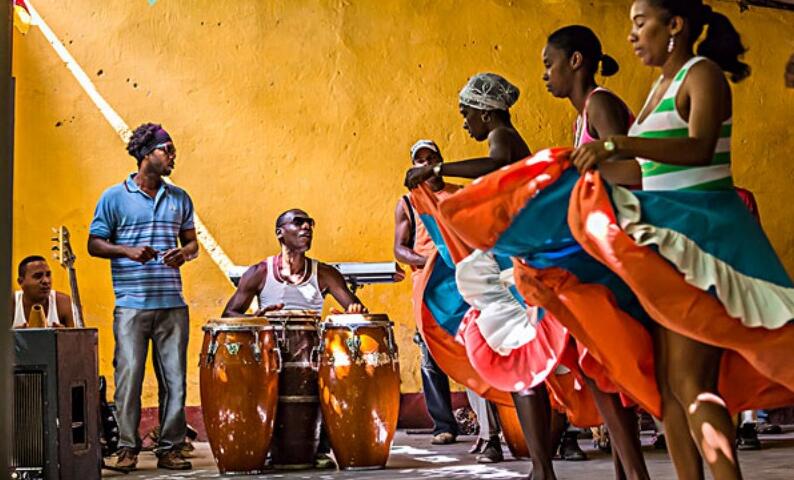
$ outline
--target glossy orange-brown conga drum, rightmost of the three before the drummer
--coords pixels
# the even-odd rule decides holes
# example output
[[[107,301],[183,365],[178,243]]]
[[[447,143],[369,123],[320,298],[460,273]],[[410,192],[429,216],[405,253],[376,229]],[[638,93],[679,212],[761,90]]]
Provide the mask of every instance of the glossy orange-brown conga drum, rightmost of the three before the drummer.
[[[389,459],[400,408],[400,363],[386,315],[330,315],[320,325],[320,406],[343,470]]]

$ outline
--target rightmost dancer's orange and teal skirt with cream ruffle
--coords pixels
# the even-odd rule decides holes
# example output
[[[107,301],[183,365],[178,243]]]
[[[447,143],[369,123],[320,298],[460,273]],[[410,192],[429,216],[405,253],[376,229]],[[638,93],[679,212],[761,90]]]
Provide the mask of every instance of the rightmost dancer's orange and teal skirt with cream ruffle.
[[[739,195],[632,192],[593,173],[568,218],[656,323],[724,349],[719,391],[732,412],[794,403],[794,285]]]

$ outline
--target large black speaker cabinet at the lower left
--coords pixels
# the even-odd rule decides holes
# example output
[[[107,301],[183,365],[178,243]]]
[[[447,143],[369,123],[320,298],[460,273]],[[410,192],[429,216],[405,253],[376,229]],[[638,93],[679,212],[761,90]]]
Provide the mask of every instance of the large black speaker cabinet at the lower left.
[[[11,478],[100,478],[97,331],[14,330]]]

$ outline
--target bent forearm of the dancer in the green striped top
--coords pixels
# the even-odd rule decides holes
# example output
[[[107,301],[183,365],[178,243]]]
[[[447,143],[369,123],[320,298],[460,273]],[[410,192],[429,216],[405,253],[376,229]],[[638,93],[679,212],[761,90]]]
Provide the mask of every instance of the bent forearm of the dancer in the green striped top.
[[[714,141],[701,138],[643,138],[624,135],[611,137],[615,153],[621,157],[646,158],[669,165],[709,165]]]

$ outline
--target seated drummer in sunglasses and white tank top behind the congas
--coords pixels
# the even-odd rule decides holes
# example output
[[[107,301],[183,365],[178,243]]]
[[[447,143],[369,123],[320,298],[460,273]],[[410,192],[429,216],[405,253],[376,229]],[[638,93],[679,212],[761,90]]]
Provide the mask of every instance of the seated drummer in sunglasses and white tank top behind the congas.
[[[223,310],[224,317],[241,317],[255,296],[266,311],[322,310],[326,293],[336,299],[347,313],[367,310],[347,287],[337,269],[306,257],[312,246],[314,220],[308,213],[291,209],[276,220],[276,238],[281,253],[250,267],[240,279],[237,291]]]

